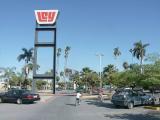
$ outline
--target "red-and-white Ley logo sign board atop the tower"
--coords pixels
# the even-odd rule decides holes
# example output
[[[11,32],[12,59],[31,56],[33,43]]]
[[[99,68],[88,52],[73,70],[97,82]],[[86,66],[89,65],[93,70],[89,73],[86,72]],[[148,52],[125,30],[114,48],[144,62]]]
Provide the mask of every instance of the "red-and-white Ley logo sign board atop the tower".
[[[35,10],[38,24],[54,24],[58,15],[58,10]]]

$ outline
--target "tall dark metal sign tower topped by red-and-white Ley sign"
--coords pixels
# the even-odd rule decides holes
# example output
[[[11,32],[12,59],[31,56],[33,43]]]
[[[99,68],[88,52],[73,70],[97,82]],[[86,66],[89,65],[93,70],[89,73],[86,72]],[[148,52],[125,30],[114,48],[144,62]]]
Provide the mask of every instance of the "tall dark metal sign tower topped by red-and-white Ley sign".
[[[56,19],[58,10],[35,10],[36,27],[34,40],[34,59],[33,59],[33,81],[32,91],[35,92],[37,79],[51,79],[53,86],[53,94],[55,94],[55,80],[56,80]],[[39,32],[51,32],[52,41],[39,41]],[[37,51],[38,48],[53,48],[53,70],[50,74],[38,74],[37,66]],[[41,66],[41,65],[40,65]]]

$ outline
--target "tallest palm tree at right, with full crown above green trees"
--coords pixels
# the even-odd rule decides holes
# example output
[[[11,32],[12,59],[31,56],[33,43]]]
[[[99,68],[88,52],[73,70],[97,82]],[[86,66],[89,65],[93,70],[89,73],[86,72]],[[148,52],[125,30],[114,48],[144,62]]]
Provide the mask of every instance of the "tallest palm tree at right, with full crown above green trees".
[[[140,60],[140,71],[141,74],[143,73],[143,59],[144,56],[146,55],[146,47],[149,46],[149,44],[143,44],[142,41],[140,40],[139,42],[134,43],[134,48],[132,49],[133,56],[136,57],[138,60]]]

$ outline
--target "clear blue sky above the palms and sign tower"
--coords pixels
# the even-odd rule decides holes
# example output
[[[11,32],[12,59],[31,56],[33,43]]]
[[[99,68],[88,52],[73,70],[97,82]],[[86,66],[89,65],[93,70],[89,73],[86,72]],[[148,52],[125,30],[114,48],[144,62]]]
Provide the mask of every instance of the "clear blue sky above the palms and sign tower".
[[[88,66],[98,71],[95,54],[103,53],[102,67],[117,64],[122,69],[124,61],[132,62],[129,49],[139,40],[150,43],[147,53],[160,52],[159,6],[159,0],[1,0],[0,67],[20,70],[24,64],[17,61],[21,48],[34,46],[34,10],[58,9],[57,46],[63,50],[71,46],[68,67],[81,70]],[[122,52],[118,61],[113,57],[115,47]],[[45,52],[40,60],[43,70],[52,58]]]

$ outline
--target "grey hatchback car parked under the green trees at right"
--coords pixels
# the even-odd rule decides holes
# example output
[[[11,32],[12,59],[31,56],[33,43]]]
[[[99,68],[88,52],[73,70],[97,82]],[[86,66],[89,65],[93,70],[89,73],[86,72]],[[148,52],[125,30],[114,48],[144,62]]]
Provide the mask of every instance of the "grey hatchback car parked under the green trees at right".
[[[146,95],[142,90],[119,89],[113,94],[111,102],[116,106],[124,106],[129,109],[136,105],[148,105],[155,103],[155,97]]]

